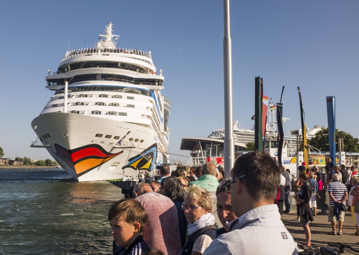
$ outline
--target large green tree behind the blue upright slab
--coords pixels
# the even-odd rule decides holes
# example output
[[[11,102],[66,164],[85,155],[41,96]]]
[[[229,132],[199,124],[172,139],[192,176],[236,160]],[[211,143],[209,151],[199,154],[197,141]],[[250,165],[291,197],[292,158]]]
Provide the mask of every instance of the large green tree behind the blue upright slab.
[[[343,138],[344,151],[345,152],[359,152],[359,139],[354,138],[351,134],[345,131],[335,132],[336,142],[338,138]],[[308,144],[323,151],[329,151],[329,140],[328,140],[328,129],[322,129],[316,133],[316,135],[308,140]],[[336,143],[336,151],[339,150],[338,144]]]

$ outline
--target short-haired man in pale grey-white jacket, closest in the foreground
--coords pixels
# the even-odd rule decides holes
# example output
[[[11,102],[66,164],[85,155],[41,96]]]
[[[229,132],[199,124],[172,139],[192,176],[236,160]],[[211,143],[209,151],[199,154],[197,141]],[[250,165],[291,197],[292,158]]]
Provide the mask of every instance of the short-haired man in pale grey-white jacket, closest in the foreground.
[[[281,170],[269,153],[253,151],[239,157],[232,169],[233,211],[229,232],[220,235],[203,255],[298,254],[292,235],[274,204]]]

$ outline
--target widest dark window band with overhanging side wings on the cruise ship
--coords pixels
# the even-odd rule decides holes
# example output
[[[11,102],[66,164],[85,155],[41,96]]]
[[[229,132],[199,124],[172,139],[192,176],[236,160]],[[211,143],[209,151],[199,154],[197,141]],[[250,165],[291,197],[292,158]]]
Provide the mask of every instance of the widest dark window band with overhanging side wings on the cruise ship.
[[[121,74],[81,74],[76,75],[69,81],[69,84],[75,82],[86,82],[89,80],[111,80],[127,82],[131,84],[139,85],[162,85],[163,80],[160,79],[145,79],[145,78],[134,78]],[[49,86],[65,85],[65,78],[63,79],[48,79],[47,84]]]

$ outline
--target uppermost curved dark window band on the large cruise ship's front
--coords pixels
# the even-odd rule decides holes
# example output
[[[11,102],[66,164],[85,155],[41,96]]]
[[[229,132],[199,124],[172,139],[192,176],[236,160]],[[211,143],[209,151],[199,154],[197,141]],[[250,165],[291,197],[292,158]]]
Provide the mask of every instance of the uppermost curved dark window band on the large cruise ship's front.
[[[59,73],[66,73],[68,71],[76,70],[76,69],[84,69],[84,68],[117,68],[117,69],[125,69],[130,71],[135,71],[137,73],[145,73],[145,69],[140,66],[121,63],[121,62],[112,62],[112,61],[86,61],[86,62],[77,62],[65,66],[60,66],[57,71]]]

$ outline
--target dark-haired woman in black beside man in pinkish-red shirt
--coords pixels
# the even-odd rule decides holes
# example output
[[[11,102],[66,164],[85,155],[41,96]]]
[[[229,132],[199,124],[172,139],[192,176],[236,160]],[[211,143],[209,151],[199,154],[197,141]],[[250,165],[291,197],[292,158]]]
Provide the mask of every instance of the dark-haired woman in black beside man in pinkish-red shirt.
[[[167,196],[176,206],[178,215],[178,226],[180,227],[181,248],[186,243],[187,219],[183,213],[183,201],[185,190],[180,179],[174,176],[164,178],[161,182],[159,194]]]

